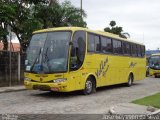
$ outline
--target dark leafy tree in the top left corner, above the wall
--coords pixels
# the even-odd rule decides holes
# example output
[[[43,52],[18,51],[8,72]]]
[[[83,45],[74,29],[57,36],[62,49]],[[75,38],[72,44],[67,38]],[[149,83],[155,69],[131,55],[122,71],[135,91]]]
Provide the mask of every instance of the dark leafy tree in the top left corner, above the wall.
[[[8,26],[17,35],[22,50],[25,49],[25,41],[32,31],[40,28],[40,23],[30,13],[29,3],[35,0],[0,0],[0,39],[3,41],[4,49],[7,50],[9,35]],[[44,2],[44,0],[37,0]]]

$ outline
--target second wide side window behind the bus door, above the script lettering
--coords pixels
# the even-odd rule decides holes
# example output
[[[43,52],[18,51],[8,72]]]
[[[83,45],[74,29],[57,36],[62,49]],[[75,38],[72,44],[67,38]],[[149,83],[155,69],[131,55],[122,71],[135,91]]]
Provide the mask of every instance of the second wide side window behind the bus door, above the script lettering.
[[[101,50],[103,53],[112,52],[112,41],[109,38],[101,37]]]

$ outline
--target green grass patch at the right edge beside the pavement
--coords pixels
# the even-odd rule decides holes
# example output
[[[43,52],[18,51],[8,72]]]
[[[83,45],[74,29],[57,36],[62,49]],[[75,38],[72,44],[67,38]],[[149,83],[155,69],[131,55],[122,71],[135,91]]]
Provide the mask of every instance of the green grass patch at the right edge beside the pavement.
[[[160,108],[160,93],[134,100],[132,103]]]

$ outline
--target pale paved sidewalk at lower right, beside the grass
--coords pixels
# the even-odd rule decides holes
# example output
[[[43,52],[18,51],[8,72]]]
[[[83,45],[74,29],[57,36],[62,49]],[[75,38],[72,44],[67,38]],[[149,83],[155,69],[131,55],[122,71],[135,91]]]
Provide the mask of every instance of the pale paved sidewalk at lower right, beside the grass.
[[[110,114],[143,114],[151,115],[153,113],[160,113],[160,110],[153,107],[137,105],[133,103],[121,103],[112,106],[109,110]]]

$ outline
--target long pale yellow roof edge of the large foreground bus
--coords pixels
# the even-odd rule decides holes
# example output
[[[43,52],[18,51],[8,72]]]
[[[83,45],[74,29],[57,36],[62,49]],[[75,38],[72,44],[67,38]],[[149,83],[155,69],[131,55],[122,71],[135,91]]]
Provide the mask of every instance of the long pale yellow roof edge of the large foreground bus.
[[[131,42],[131,43],[135,43],[135,44],[144,45],[142,43],[138,43],[138,42],[132,41],[130,39],[125,39],[125,38],[119,37],[119,35],[116,35],[116,34],[112,34],[112,33],[109,33],[109,32],[103,32],[103,31],[90,30],[88,28],[82,28],[82,27],[48,28],[48,29],[42,29],[42,30],[35,31],[35,32],[33,32],[33,34],[42,33],[42,32],[51,32],[51,31],[65,31],[65,30],[70,30],[70,31],[83,30],[83,31],[86,31],[86,32],[91,32],[91,33],[94,33],[94,34],[98,34],[98,35],[102,35],[102,36],[106,36],[106,37],[111,37],[111,38],[119,39],[119,40],[126,41],[126,42]]]

